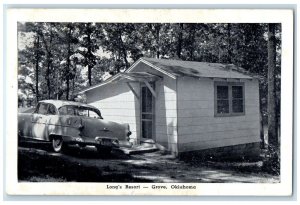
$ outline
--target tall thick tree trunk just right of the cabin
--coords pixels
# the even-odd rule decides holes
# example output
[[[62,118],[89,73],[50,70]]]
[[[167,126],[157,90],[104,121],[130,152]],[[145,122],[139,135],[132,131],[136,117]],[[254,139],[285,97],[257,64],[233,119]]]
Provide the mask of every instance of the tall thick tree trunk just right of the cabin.
[[[275,110],[275,63],[276,63],[276,42],[275,25],[269,24],[268,32],[268,140],[269,145],[278,148],[278,136],[276,133],[276,110]]]

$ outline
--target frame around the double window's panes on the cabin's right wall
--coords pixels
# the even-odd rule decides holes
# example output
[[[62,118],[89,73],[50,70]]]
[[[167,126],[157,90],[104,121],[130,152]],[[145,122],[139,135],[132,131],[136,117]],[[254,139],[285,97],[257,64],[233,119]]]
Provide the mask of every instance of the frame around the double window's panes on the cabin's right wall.
[[[229,113],[217,113],[217,86],[228,86],[228,101],[229,101]],[[242,86],[243,90],[243,112],[232,112],[232,86]],[[214,82],[214,114],[215,117],[231,117],[242,116],[246,114],[245,111],[245,83],[244,82]]]

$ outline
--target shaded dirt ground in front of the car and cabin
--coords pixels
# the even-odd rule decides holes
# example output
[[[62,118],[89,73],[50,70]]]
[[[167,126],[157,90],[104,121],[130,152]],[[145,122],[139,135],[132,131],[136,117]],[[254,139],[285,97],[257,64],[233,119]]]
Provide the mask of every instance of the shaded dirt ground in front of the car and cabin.
[[[113,150],[101,156],[92,147],[53,153],[47,145],[22,145],[19,181],[31,182],[194,182],[277,183],[260,171],[262,162],[188,162],[157,151],[125,155]]]

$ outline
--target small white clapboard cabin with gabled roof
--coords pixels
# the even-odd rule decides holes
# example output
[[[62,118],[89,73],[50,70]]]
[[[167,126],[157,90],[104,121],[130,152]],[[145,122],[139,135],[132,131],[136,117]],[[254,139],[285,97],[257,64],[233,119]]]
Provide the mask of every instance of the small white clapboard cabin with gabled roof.
[[[179,154],[259,154],[259,82],[234,65],[141,58],[80,92],[104,119]],[[225,152],[225,153],[224,153]]]

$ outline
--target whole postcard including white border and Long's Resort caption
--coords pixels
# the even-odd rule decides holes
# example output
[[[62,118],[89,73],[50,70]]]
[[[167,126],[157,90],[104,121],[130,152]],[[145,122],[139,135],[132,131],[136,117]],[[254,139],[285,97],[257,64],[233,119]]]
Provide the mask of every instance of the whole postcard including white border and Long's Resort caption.
[[[293,10],[6,20],[7,194],[292,194]]]

